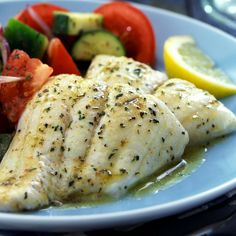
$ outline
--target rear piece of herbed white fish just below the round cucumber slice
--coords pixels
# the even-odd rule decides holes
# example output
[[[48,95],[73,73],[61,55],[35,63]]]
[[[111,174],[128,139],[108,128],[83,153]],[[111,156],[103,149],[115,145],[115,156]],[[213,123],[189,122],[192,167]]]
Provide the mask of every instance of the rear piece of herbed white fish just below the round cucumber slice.
[[[152,93],[167,80],[164,73],[132,58],[108,55],[98,55],[93,59],[86,78],[104,81],[108,85],[117,82],[129,84],[144,93]]]

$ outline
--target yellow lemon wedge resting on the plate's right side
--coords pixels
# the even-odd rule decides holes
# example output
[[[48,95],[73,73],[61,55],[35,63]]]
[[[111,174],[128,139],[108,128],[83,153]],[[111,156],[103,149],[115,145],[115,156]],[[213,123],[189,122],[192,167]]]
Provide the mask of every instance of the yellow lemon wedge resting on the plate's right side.
[[[181,78],[217,98],[236,93],[236,85],[205,55],[191,36],[172,36],[164,44],[164,63],[169,78]]]

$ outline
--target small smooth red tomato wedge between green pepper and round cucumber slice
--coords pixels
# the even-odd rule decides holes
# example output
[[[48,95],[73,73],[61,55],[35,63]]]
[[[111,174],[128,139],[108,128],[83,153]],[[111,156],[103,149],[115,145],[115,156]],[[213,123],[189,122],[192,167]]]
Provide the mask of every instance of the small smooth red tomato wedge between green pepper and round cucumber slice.
[[[48,46],[48,64],[53,68],[53,75],[80,75],[75,62],[59,38],[54,38]]]

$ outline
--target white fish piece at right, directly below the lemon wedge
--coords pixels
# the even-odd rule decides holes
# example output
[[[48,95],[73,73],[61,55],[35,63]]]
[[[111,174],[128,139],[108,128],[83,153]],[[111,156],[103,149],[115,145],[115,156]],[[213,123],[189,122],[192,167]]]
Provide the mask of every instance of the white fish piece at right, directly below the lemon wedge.
[[[236,130],[236,117],[207,91],[188,81],[171,79],[154,94],[175,114],[189,133],[189,144],[206,143]]]

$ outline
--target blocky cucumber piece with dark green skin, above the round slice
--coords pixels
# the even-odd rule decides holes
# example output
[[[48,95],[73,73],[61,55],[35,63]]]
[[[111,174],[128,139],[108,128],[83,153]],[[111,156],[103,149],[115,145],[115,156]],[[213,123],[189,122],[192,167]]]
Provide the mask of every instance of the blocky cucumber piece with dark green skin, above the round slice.
[[[82,31],[102,28],[103,16],[97,13],[68,13],[55,11],[53,32],[78,35]]]

